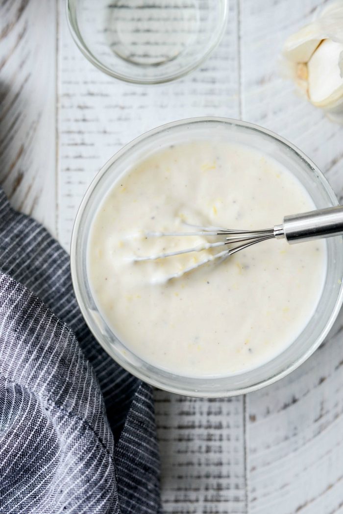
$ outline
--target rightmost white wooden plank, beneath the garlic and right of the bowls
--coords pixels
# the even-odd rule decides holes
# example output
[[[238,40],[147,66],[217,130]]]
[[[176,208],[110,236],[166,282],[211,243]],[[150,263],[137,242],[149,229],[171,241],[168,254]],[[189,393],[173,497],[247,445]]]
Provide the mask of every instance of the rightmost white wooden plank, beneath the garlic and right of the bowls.
[[[342,199],[342,127],[297,97],[279,75],[286,36],[311,20],[318,0],[241,1],[242,116],[295,143]],[[342,510],[342,316],[300,369],[247,396],[248,511]],[[336,333],[336,335],[334,335]]]

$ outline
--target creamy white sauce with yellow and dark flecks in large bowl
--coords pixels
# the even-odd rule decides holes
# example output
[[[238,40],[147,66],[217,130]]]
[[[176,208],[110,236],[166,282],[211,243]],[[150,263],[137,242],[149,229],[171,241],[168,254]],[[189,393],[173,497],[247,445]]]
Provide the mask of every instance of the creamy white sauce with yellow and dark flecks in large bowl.
[[[290,345],[313,315],[326,274],[323,241],[270,240],[166,280],[222,247],[155,261],[213,236],[185,224],[269,228],[314,209],[300,182],[243,145],[194,141],[157,152],[119,178],[95,216],[88,276],[100,312],[142,359],[180,375],[209,376],[258,366]]]

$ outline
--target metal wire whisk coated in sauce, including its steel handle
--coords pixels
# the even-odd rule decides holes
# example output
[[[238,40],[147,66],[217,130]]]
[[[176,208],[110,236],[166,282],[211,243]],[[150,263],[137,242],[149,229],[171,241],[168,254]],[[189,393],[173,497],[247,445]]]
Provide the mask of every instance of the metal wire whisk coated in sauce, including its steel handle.
[[[225,247],[225,250],[207,256],[202,261],[189,266],[181,271],[171,274],[166,280],[182,277],[185,273],[192,271],[211,261],[222,262],[230,255],[237,253],[249,246],[262,243],[268,239],[285,239],[287,243],[301,243],[322,237],[331,237],[343,234],[343,206],[319,209],[285,216],[281,225],[262,230],[230,230],[222,227],[200,227],[186,224],[196,229],[190,232],[147,232],[146,237],[168,237],[168,236],[226,236],[223,241],[214,243],[202,243],[185,250],[177,250],[165,253],[157,253],[148,256],[135,256],[133,261],[152,261],[166,259],[174,255],[182,255],[189,252],[201,252],[210,248]]]

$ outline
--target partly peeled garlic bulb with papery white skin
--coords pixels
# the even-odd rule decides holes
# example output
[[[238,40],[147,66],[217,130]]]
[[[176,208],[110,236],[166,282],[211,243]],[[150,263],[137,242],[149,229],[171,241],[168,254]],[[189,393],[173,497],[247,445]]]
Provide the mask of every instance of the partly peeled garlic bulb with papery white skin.
[[[343,124],[343,0],[291,35],[283,54],[308,100]]]

